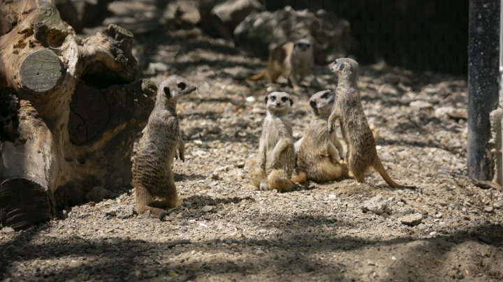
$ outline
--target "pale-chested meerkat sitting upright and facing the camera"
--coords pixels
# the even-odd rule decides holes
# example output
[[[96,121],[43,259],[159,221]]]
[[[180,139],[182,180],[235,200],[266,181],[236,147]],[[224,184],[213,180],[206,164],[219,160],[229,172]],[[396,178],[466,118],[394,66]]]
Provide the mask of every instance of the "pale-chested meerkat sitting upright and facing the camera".
[[[251,184],[258,190],[291,191],[295,165],[292,128],[287,116],[293,100],[285,92],[265,96],[267,115],[263,121],[258,157],[247,163]]]

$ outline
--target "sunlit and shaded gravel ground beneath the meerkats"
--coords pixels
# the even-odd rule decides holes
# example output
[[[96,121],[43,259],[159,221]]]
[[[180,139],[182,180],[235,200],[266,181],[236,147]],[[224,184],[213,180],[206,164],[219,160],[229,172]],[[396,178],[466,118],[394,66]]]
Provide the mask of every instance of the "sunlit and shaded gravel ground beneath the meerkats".
[[[265,62],[197,29],[136,41],[143,77],[175,74],[198,85],[178,106],[187,152],[173,170],[184,205],[164,221],[138,215],[134,190],[124,187],[69,207],[65,220],[3,228],[0,281],[502,281],[502,191],[466,176],[466,121],[446,115],[466,111],[465,77],[361,67],[379,155],[417,191],[389,188],[377,172],[365,184],[254,191],[245,161],[258,150],[263,96],[291,92],[286,81],[242,81]],[[149,62],[165,65],[156,72]],[[309,95],[337,83],[326,66],[313,73],[293,94],[296,138],[310,118]]]

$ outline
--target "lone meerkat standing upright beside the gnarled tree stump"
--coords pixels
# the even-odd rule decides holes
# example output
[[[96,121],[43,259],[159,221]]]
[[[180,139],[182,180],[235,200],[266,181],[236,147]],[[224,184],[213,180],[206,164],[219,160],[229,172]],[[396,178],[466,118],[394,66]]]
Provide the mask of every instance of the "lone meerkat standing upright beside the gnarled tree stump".
[[[136,211],[140,214],[145,211],[158,216],[163,214],[164,209],[149,206],[156,198],[168,208],[182,205],[171,170],[173,158],[185,161],[175,107],[179,98],[195,90],[196,87],[174,77],[159,85],[154,110],[138,142],[131,169],[136,188]]]

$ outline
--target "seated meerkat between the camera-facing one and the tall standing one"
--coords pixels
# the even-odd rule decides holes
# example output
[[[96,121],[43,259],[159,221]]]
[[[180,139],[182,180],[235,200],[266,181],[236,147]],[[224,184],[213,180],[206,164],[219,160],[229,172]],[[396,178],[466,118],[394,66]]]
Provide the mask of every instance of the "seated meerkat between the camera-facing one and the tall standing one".
[[[347,164],[341,163],[342,144],[335,131],[328,133],[327,119],[333,108],[334,94],[330,90],[319,91],[309,98],[313,117],[297,154],[297,165],[305,172],[307,179],[325,182],[348,177]],[[305,179],[302,174],[293,178],[294,182]]]

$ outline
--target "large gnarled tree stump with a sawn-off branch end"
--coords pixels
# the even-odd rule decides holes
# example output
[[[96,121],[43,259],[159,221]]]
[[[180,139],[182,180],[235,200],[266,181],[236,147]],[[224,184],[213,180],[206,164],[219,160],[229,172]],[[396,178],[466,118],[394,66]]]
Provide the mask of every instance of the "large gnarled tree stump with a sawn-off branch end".
[[[133,82],[126,29],[80,40],[52,0],[0,6],[0,223],[22,229],[94,186],[130,184],[156,87]]]

